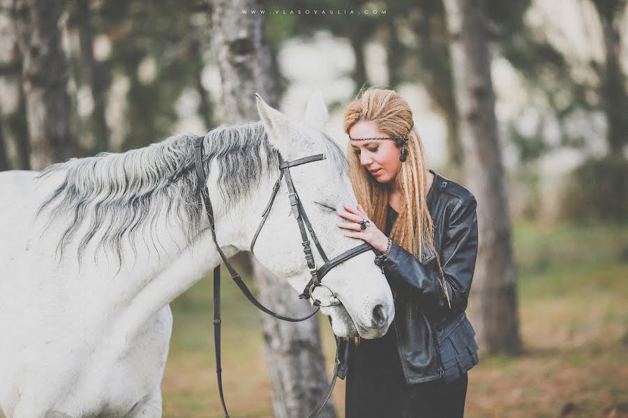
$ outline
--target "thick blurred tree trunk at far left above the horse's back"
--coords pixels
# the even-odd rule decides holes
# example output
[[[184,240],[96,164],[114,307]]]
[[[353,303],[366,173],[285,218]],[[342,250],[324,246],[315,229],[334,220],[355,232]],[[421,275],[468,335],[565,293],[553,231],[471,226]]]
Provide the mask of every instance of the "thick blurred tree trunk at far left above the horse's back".
[[[15,23],[22,54],[31,139],[31,167],[40,170],[73,155],[66,56],[59,33],[59,2],[15,0]]]

